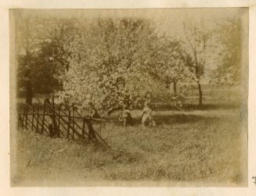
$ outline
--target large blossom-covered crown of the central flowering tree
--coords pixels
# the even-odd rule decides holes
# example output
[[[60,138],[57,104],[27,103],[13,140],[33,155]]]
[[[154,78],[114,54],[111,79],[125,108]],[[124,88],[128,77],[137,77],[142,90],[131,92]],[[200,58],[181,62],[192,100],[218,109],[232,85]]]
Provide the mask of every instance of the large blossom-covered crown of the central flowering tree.
[[[72,43],[60,99],[81,107],[135,104],[163,90],[156,74],[159,38],[147,20],[92,20]],[[71,46],[71,47],[72,47]]]

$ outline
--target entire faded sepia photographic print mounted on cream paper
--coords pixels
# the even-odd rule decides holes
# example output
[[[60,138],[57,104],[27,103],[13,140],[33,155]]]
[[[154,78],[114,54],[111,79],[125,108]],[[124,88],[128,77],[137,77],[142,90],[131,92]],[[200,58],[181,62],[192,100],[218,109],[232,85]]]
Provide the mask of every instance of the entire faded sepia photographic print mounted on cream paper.
[[[247,187],[248,8],[9,9],[11,187]]]

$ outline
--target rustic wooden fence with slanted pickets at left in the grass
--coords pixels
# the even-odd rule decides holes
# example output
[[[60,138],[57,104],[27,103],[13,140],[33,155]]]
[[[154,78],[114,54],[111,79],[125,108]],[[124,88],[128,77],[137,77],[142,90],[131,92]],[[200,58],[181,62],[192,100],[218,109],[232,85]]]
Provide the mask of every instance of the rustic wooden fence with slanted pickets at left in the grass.
[[[23,127],[39,134],[49,135],[49,137],[97,140],[108,146],[92,126],[93,123],[103,122],[105,122],[104,119],[82,116],[74,107],[65,111],[59,105],[55,105],[53,96],[52,102],[46,98],[44,103],[38,100],[37,106],[23,104],[18,114],[18,128]]]

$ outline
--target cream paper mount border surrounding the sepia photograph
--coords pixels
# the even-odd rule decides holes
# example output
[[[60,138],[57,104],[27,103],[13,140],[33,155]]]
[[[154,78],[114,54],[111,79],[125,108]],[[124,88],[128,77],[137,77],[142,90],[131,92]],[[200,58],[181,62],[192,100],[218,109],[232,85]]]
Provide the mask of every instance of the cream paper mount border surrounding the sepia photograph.
[[[0,188],[2,195],[256,195],[256,2],[218,1],[29,1],[0,2]],[[248,187],[10,187],[9,9],[141,9],[249,7]]]

